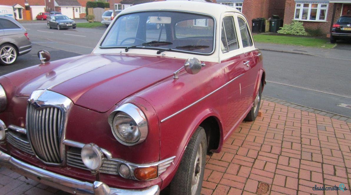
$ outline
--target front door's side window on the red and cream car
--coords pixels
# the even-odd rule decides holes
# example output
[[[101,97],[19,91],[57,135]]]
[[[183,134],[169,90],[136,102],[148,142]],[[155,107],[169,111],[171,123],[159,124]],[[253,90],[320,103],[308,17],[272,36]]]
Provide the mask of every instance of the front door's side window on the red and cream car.
[[[239,48],[233,16],[225,16],[222,23],[221,49],[223,52]]]

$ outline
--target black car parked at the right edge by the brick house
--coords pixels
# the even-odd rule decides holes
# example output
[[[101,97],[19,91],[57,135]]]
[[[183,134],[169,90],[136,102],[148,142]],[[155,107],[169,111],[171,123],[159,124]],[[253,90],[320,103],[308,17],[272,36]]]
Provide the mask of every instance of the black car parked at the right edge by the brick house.
[[[339,39],[351,40],[351,15],[341,16],[338,21],[333,24],[331,29],[330,42],[335,43]]]

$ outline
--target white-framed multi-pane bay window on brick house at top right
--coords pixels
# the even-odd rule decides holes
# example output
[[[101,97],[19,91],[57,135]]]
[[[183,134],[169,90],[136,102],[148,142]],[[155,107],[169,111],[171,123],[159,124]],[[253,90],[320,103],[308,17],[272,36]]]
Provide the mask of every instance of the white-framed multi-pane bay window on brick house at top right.
[[[304,4],[309,4],[309,7],[304,7]],[[317,8],[312,8],[312,4],[317,4]],[[326,7],[321,7],[322,5],[326,5]],[[326,22],[327,21],[327,15],[328,15],[328,8],[329,8],[329,3],[296,3],[295,4],[295,11],[294,11],[294,18],[293,18],[293,20],[311,21],[311,22]],[[296,9],[300,9],[299,18],[296,18]],[[308,9],[307,19],[302,19],[303,9]],[[317,9],[316,20],[310,20],[311,10],[312,9]],[[319,20],[319,16],[320,16],[320,11],[321,10],[325,10],[325,18],[324,18],[324,20]]]

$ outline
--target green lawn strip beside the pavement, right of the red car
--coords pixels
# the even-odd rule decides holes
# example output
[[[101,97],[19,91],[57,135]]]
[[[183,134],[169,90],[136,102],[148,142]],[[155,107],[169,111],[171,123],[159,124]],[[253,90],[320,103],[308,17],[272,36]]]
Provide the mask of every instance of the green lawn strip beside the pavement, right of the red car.
[[[326,38],[296,37],[282,35],[254,35],[255,42],[277,43],[283,45],[301,45],[313,48],[333,48],[336,44],[329,42]]]

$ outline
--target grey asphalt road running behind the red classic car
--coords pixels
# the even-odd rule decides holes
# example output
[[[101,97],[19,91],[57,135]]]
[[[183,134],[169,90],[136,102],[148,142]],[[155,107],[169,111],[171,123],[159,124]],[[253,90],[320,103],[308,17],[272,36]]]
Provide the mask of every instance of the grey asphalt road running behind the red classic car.
[[[39,64],[37,52],[45,49],[52,60],[91,53],[105,28],[48,29],[46,23],[24,23],[33,49],[15,65],[0,66],[0,75]],[[351,50],[343,42],[338,49]],[[267,85],[263,95],[351,117],[351,61],[307,55],[262,51]]]

